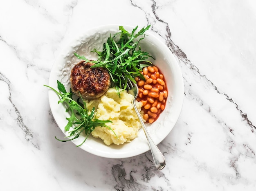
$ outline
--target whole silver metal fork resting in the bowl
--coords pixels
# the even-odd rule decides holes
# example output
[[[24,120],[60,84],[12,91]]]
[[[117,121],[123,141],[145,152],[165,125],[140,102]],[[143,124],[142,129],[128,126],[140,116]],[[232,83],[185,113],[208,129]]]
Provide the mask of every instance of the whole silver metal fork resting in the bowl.
[[[148,140],[148,145],[149,145],[149,148],[151,150],[151,153],[152,153],[152,156],[153,156],[153,160],[155,162],[155,167],[158,170],[162,170],[165,167],[165,164],[166,164],[164,156],[161,153],[161,151],[158,149],[157,145],[155,145],[155,143],[153,142],[153,140],[150,137],[150,135],[148,134],[148,130],[146,129],[145,124],[142,121],[141,116],[139,114],[139,111],[137,110],[136,105],[135,105],[135,100],[136,100],[136,98],[137,98],[137,96],[139,94],[138,86],[137,86],[137,84],[135,84],[132,81],[130,81],[130,79],[128,79],[126,90],[128,91],[128,93],[134,95],[133,106],[134,106],[135,112],[136,112],[136,114],[137,114],[137,116],[139,118],[139,121],[140,121],[140,123],[142,125],[142,128],[144,130],[146,138]]]

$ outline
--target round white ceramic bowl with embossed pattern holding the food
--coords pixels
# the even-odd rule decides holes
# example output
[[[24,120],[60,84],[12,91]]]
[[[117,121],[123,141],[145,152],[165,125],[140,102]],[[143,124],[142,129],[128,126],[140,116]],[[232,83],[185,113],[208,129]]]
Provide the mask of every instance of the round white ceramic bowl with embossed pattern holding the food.
[[[133,26],[124,26],[124,29],[129,32],[134,28]],[[74,56],[74,53],[84,55],[88,59],[97,59],[96,53],[92,53],[91,51],[94,48],[102,50],[103,43],[106,42],[110,33],[114,34],[118,31],[119,25],[99,26],[96,29],[84,31],[81,36],[74,39],[70,44],[67,44],[52,67],[49,77],[49,86],[57,90],[56,81],[59,80],[64,84],[66,90],[69,91],[71,68],[80,61]],[[155,58],[155,60],[151,61],[164,74],[168,88],[165,110],[160,114],[157,121],[153,124],[146,125],[153,141],[159,144],[171,132],[179,118],[184,97],[184,84],[182,73],[171,51],[153,33],[147,31],[145,34],[145,39],[142,40],[139,45],[143,51],[148,52]],[[49,90],[49,104],[54,119],[65,136],[68,136],[69,134],[65,132],[64,127],[67,124],[66,117],[69,115],[65,112],[64,106],[58,104],[58,100],[59,97],[57,94]],[[64,134],[63,137],[58,138],[63,139]],[[83,140],[84,137],[80,136],[72,142],[75,145],[79,145]],[[146,136],[142,129],[139,130],[137,138],[124,145],[112,144],[107,146],[99,138],[90,136],[80,147],[91,154],[106,158],[127,158],[149,150]]]

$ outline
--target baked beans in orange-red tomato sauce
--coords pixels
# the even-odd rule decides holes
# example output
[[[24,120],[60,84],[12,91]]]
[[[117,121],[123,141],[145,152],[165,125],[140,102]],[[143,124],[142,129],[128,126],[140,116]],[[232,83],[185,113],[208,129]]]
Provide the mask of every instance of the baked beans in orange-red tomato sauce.
[[[146,122],[153,123],[165,108],[168,91],[164,75],[156,66],[143,68],[142,74],[145,80],[135,78],[139,88],[137,101],[142,103],[143,118]]]

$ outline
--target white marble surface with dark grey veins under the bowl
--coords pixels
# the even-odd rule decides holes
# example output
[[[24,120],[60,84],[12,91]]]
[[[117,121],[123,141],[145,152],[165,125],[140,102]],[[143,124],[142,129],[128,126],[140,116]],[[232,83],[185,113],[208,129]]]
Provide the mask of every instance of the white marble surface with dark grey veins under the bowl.
[[[256,190],[255,13],[253,0],[1,1],[0,190]],[[61,48],[103,24],[151,24],[182,70],[161,171],[150,151],[108,159],[54,138],[43,84]]]

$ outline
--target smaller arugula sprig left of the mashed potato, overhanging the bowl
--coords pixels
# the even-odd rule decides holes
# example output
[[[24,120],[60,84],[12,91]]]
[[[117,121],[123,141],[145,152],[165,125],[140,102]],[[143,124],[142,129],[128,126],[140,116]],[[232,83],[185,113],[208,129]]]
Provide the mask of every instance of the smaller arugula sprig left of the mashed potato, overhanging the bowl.
[[[58,101],[58,103],[65,103],[67,105],[66,112],[70,113],[70,117],[66,118],[68,122],[67,122],[67,125],[65,126],[65,131],[69,131],[70,127],[73,127],[73,130],[69,132],[70,136],[65,137],[68,139],[61,140],[55,137],[58,141],[62,141],[62,142],[72,141],[75,138],[78,138],[82,132],[85,132],[86,136],[84,141],[80,145],[76,146],[76,147],[79,147],[86,141],[86,139],[88,138],[90,133],[95,129],[95,127],[108,127],[108,129],[115,134],[112,128],[106,125],[106,123],[112,123],[112,121],[95,119],[95,108],[92,109],[89,115],[89,111],[86,108],[86,103],[85,101],[83,101],[83,98],[81,97],[81,95],[79,99],[81,99],[83,103],[79,102],[79,99],[77,101],[72,99],[73,93],[71,89],[70,89],[70,92],[67,92],[65,89],[65,86],[60,81],[57,80],[57,84],[58,84],[58,90],[60,92],[58,92],[57,90],[55,90],[50,86],[47,86],[47,85],[44,85],[44,86],[52,89],[54,92],[56,92],[56,94],[58,94],[58,96],[60,97],[60,100]],[[116,134],[115,136],[117,137]]]

